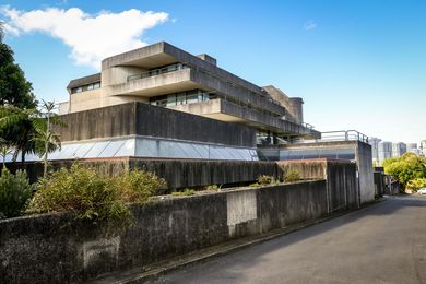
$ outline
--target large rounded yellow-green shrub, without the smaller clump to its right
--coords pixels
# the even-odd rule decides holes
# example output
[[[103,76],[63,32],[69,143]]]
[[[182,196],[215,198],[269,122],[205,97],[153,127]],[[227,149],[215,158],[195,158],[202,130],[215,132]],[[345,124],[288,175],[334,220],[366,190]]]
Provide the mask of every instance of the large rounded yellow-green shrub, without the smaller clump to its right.
[[[130,210],[110,181],[109,177],[98,175],[95,169],[78,164],[70,169],[61,168],[38,181],[29,211],[75,211],[76,218],[93,223],[128,221]]]

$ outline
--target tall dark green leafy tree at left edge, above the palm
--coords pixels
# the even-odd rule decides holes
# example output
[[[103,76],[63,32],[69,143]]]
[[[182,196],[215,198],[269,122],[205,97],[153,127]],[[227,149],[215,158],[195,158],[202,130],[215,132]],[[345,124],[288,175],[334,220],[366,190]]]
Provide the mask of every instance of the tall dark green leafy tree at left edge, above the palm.
[[[22,109],[35,108],[37,100],[32,84],[14,62],[12,49],[3,43],[4,29],[0,22],[0,105],[12,105]]]

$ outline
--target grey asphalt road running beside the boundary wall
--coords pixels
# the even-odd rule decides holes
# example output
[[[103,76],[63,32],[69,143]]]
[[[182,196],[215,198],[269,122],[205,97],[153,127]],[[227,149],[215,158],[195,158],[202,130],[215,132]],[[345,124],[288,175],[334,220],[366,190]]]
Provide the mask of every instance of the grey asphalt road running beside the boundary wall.
[[[388,198],[154,283],[426,283],[426,196]]]

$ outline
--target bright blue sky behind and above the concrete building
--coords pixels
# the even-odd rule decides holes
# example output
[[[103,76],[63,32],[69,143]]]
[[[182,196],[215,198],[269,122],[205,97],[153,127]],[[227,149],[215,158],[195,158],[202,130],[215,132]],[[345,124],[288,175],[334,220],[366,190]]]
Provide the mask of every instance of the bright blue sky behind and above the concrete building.
[[[153,11],[151,26],[114,50],[166,40],[209,54],[258,85],[303,97],[305,121],[320,131],[356,129],[394,142],[426,139],[426,1],[0,0],[0,19],[10,25],[5,43],[40,98],[67,99],[68,82],[97,72],[96,58],[111,49],[96,52],[116,34],[66,24],[66,32],[57,31],[66,16],[44,16],[44,26],[20,22],[25,13],[78,8],[95,19],[134,9]],[[17,11],[17,20],[4,11]],[[115,21],[129,31],[134,24],[128,19]],[[79,42],[84,31],[86,45]],[[95,50],[87,46],[91,32],[99,43]]]

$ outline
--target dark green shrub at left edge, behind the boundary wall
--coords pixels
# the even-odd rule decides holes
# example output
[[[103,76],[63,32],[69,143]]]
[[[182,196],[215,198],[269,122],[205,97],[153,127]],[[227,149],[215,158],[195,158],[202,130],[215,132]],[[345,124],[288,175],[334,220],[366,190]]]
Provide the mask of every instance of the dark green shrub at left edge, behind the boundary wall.
[[[15,175],[3,167],[0,177],[0,218],[19,216],[25,209],[33,192],[26,173]]]

